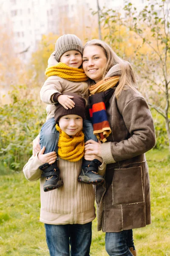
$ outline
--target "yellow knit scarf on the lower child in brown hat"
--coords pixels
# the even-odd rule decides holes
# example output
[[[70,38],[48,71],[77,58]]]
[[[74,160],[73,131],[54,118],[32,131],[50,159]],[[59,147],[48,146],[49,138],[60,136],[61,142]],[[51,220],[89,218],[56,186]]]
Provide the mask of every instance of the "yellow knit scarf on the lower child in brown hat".
[[[73,137],[70,137],[56,125],[59,131],[58,156],[69,162],[77,162],[84,156],[85,142],[84,134],[79,131]]]

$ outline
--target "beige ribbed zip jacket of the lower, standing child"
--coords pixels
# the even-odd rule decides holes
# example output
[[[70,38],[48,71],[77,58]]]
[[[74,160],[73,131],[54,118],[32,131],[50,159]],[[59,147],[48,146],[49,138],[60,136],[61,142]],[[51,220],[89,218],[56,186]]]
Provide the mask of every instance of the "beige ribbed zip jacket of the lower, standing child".
[[[43,191],[45,178],[41,178],[42,165],[37,155],[31,157],[23,167],[23,173],[30,181],[40,179],[40,221],[46,224],[85,224],[96,217],[92,185],[77,181],[82,160],[69,162],[59,158],[58,167],[64,185],[49,192]],[[105,163],[99,167],[99,174],[105,174]]]

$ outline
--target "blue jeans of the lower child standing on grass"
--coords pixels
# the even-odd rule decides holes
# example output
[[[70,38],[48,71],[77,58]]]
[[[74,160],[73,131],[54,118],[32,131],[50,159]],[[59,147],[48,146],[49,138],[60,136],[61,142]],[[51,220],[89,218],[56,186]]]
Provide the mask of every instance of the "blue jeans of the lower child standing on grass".
[[[91,226],[92,222],[83,225],[45,224],[46,241],[50,256],[89,256]]]

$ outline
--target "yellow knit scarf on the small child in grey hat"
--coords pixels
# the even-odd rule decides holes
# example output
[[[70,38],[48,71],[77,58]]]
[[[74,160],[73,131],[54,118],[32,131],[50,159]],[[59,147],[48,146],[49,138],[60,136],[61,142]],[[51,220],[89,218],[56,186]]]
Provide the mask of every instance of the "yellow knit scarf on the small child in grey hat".
[[[88,77],[82,68],[68,67],[66,64],[59,62],[56,66],[47,67],[46,76],[59,76],[68,81],[82,82],[87,81]]]

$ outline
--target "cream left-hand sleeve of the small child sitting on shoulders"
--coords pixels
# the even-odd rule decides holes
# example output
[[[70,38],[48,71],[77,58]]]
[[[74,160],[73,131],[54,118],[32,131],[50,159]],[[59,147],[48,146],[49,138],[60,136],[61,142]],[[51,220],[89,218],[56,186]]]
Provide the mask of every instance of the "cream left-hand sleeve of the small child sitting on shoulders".
[[[46,104],[55,104],[53,96],[55,93],[62,93],[63,80],[58,76],[50,76],[40,90],[40,98]]]

